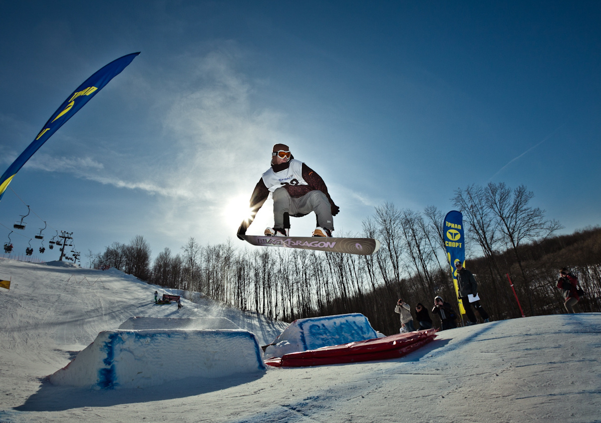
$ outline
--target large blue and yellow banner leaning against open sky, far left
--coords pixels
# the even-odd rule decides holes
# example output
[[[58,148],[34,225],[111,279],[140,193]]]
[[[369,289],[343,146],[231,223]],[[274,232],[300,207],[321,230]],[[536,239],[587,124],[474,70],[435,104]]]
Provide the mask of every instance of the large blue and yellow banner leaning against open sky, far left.
[[[94,73],[90,78],[86,79],[83,84],[79,85],[67,100],[54,112],[50,119],[46,122],[40,133],[35,137],[34,141],[29,144],[29,147],[25,148],[25,151],[14,160],[13,164],[8,166],[8,169],[0,178],[0,199],[4,195],[4,191],[7,189],[10,181],[13,180],[14,175],[19,171],[20,168],[25,165],[25,162],[34,155],[35,151],[41,147],[44,142],[47,141],[59,127],[68,121],[76,112],[84,107],[85,103],[90,101],[92,97],[102,90],[102,88],[111,81],[115,76],[119,75],[121,71],[129,65],[138,53],[131,53],[126,56],[120,57],[117,60],[110,62],[108,65]]]

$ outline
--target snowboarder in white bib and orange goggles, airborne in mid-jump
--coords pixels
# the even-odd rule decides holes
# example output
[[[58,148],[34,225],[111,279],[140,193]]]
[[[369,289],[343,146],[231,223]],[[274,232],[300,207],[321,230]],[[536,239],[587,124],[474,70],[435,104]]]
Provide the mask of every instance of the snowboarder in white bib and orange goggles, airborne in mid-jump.
[[[288,236],[290,216],[300,218],[315,212],[317,228],[314,237],[331,237],[334,219],[340,207],[334,204],[322,177],[305,163],[294,159],[290,148],[275,144],[271,167],[261,176],[251,196],[251,216],[242,221],[237,236],[243,239],[269,193],[273,196],[273,228],[265,230],[266,236]]]

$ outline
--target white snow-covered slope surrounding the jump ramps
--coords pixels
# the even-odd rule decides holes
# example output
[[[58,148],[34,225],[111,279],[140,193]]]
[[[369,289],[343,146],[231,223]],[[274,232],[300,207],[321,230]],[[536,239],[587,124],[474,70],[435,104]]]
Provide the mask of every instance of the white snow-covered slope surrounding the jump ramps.
[[[180,311],[157,306],[157,287],[116,270],[0,260],[0,278],[7,277],[11,290],[0,288],[0,422],[601,421],[600,313],[447,330],[396,360],[94,390],[44,378],[131,317],[224,318],[261,345],[287,324],[206,299],[183,300]],[[173,368],[186,374],[177,362]]]

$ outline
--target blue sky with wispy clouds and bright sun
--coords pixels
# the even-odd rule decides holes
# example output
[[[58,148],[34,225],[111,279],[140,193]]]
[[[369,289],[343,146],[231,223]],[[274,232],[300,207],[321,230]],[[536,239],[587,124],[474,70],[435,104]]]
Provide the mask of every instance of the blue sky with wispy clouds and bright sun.
[[[14,177],[0,240],[47,221],[82,259],[142,235],[155,257],[236,239],[276,142],[316,170],[337,233],[374,207],[452,210],[469,184],[525,184],[599,225],[599,2],[2,2],[0,166],[108,62],[141,54]],[[11,190],[12,189],[12,190]],[[15,195],[15,193],[19,196]],[[39,216],[39,217],[38,217]],[[272,222],[269,204],[249,234]],[[308,236],[314,219],[294,219]],[[31,245],[37,253],[40,241]],[[55,260],[58,254],[40,255]],[[53,257],[56,255],[57,257]]]

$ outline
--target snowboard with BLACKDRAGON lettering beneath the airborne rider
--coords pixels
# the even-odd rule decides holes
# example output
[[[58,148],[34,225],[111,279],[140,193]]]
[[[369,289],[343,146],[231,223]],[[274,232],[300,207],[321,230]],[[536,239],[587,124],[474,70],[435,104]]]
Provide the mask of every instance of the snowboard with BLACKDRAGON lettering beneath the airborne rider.
[[[264,247],[301,248],[326,252],[370,255],[378,251],[380,242],[371,238],[328,238],[328,237],[266,237],[243,235],[252,245]]]

